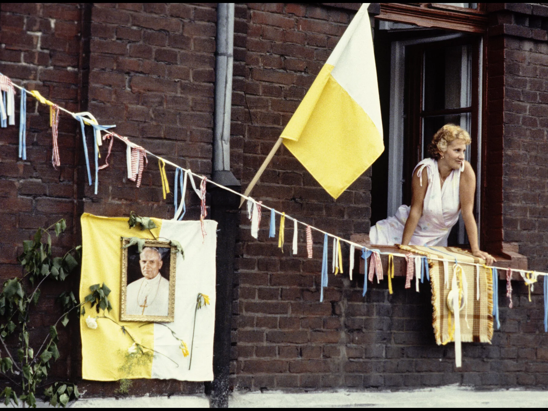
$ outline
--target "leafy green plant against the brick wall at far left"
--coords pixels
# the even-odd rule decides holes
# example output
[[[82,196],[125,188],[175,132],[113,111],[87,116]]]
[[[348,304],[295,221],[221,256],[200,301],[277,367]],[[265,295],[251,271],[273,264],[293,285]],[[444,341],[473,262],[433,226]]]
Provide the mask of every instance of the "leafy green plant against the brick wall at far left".
[[[0,373],[11,384],[0,393],[5,405],[13,404],[36,407],[36,390],[48,377],[52,361],[59,358],[57,348],[57,326],[68,323],[68,313],[79,309],[72,293],[63,293],[64,313],[49,327],[49,333],[38,346],[31,346],[37,340],[33,329],[28,326],[31,307],[36,306],[40,298],[40,287],[46,279],[65,281],[78,266],[80,247],[75,247],[64,256],[52,253],[50,230],[59,237],[66,229],[65,220],[59,220],[47,229],[39,228],[32,240],[23,242],[23,253],[19,256],[26,274],[22,278],[4,281],[0,293],[0,344],[3,347],[0,358]],[[45,236],[45,242],[42,238]],[[26,281],[28,280],[28,281]],[[65,387],[62,389],[62,387]],[[45,390],[52,405],[65,406],[70,398],[78,398],[78,390],[72,384],[55,383]],[[66,400],[66,401],[65,401]]]

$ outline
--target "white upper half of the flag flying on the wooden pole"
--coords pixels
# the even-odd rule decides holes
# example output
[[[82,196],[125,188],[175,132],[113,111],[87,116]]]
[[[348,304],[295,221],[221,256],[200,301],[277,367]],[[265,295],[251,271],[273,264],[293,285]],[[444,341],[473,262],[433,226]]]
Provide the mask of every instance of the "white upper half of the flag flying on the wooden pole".
[[[362,107],[383,136],[368,7],[369,3],[363,3],[359,8],[326,64],[335,67],[331,72],[333,78]]]

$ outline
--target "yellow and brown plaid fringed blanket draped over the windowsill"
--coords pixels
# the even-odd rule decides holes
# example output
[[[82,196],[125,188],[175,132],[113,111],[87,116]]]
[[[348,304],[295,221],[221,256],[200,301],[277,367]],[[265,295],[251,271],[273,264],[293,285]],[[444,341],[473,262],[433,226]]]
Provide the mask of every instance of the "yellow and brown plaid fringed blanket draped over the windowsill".
[[[458,262],[475,262],[485,264],[484,260],[476,258],[469,252],[458,247],[421,247],[408,246],[403,249],[426,253],[428,256],[456,260]],[[448,255],[450,254],[450,255]],[[464,307],[460,311],[460,333],[463,343],[491,343],[493,338],[493,278],[489,270],[469,264],[459,264],[463,268],[466,289],[463,289]],[[429,259],[430,284],[432,287],[432,326],[436,343],[445,345],[454,341],[454,315],[447,304],[448,294],[451,290],[454,262]],[[479,279],[479,290],[478,290]],[[477,298],[479,291],[479,299]],[[462,306],[462,305],[461,305]],[[451,327],[451,328],[450,328]]]

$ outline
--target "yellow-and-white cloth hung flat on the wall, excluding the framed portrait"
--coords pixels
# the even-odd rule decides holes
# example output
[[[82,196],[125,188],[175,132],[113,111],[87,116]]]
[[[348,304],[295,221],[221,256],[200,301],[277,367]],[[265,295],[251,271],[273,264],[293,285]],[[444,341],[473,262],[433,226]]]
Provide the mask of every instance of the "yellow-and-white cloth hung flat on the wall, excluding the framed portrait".
[[[149,231],[130,229],[127,218],[82,215],[80,300],[90,293],[90,286],[105,283],[111,289],[108,298],[112,305],[110,312],[105,311],[108,318],[103,317],[102,310],[98,314],[89,303],[84,305],[86,312],[80,320],[80,331],[85,380],[213,380],[217,222],[205,220],[207,235],[202,237],[200,221],[151,220],[156,228]],[[181,253],[176,254],[174,321],[121,321],[121,237],[152,239],[152,235],[178,241],[185,253],[184,259]],[[208,296],[209,305],[196,310],[198,293]],[[191,357],[188,353],[185,356],[181,340],[189,351],[192,348],[190,370]],[[138,348],[134,341],[145,347],[148,355],[135,352]]]

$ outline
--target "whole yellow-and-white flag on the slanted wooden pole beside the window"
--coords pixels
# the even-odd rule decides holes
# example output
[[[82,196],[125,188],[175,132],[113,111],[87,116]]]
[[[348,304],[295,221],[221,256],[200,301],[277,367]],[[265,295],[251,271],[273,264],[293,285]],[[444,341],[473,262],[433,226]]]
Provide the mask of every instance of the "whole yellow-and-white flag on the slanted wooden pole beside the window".
[[[358,10],[281,135],[334,198],[384,150],[368,6]]]

